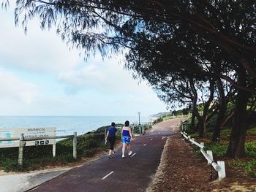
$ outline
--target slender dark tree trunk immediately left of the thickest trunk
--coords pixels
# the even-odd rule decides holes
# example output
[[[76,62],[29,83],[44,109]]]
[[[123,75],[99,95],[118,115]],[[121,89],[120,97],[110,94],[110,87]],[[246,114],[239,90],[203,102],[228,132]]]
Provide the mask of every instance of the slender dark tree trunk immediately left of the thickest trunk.
[[[214,126],[214,134],[212,135],[212,138],[211,138],[212,142],[220,141],[220,129],[222,126],[222,122],[225,118],[225,111],[226,111],[225,93],[224,93],[222,81],[220,79],[217,80],[217,87],[219,91],[219,114],[217,116],[217,120]]]

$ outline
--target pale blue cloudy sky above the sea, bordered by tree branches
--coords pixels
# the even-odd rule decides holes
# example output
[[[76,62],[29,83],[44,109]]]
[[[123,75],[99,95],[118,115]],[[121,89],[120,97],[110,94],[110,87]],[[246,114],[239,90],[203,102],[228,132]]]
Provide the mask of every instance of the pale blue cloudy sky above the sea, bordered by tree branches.
[[[129,115],[166,112],[146,82],[116,58],[84,61],[56,31],[33,21],[27,34],[14,10],[0,9],[0,115]]]

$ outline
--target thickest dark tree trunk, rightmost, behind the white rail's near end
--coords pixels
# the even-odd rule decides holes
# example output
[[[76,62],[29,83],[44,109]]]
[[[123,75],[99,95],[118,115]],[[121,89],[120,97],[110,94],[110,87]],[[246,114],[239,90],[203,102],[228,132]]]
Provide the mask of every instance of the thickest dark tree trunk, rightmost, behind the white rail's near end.
[[[246,73],[238,72],[238,84],[246,85]],[[227,156],[240,158],[244,156],[244,142],[246,136],[246,107],[249,93],[238,90],[236,96],[236,109],[233,117],[233,126],[230,134],[230,142],[227,148]]]

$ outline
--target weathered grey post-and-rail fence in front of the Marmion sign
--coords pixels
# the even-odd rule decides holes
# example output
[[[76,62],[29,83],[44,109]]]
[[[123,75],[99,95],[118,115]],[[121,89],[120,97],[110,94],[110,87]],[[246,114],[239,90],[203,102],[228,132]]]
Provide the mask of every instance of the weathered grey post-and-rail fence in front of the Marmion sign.
[[[77,132],[74,132],[73,135],[63,135],[63,136],[55,136],[55,137],[25,137],[24,134],[20,134],[20,137],[11,137],[11,138],[0,138],[0,141],[20,141],[19,150],[18,150],[18,164],[20,166],[23,165],[23,150],[24,150],[24,142],[26,141],[37,141],[43,139],[64,139],[64,138],[73,138],[73,158],[77,158]],[[56,155],[56,144],[53,145],[53,158]]]

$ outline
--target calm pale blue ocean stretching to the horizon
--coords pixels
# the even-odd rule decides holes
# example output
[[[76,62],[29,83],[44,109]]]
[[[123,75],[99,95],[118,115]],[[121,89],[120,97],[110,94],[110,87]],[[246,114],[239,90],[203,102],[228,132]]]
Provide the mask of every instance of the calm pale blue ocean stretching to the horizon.
[[[56,135],[86,134],[111,122],[138,123],[138,116],[0,116],[1,129],[56,127]],[[148,117],[140,116],[140,123],[148,122]]]

